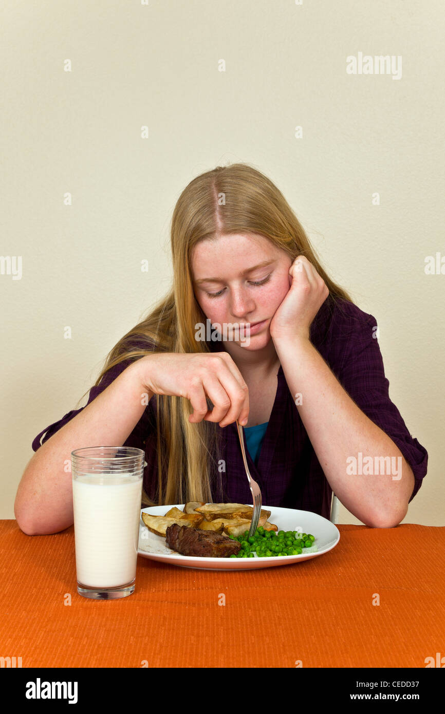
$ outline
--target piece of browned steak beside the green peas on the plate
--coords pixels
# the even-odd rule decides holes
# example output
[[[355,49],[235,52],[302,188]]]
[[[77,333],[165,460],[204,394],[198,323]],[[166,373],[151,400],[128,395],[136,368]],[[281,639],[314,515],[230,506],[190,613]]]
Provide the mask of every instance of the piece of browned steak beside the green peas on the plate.
[[[201,558],[228,558],[241,549],[241,543],[227,535],[178,526],[177,523],[166,529],[166,543],[182,555],[199,555]]]

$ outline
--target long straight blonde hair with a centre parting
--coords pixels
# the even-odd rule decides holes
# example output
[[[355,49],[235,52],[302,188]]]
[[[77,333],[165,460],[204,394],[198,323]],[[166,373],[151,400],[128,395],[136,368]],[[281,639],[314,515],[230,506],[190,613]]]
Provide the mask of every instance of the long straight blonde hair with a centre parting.
[[[196,243],[230,233],[260,234],[285,251],[291,261],[301,255],[314,265],[329,288],[331,298],[351,298],[325,273],[304,228],[281,191],[269,178],[248,164],[217,166],[196,176],[176,203],[171,221],[173,286],[106,357],[104,374],[124,360],[136,360],[152,351],[209,353],[208,343],[197,341],[196,323],[206,316],[196,301],[191,255]],[[146,349],[131,347],[146,341]],[[217,423],[190,423],[191,403],[177,396],[156,397],[157,471],[156,498],[143,491],[146,506],[186,501],[211,502],[215,479],[214,454],[221,428]],[[211,402],[209,404],[210,408]],[[166,474],[166,478],[165,478]]]

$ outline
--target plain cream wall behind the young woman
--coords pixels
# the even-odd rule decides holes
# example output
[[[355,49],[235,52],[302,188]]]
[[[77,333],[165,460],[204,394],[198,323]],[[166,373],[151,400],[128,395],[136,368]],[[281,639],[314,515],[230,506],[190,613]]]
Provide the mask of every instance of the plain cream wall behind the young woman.
[[[241,161],[376,318],[391,399],[429,452],[404,522],[444,525],[445,275],[424,270],[445,256],[444,19],[441,0],[2,3],[0,245],[22,276],[0,275],[0,518],[33,438],[84,406],[168,290],[181,191]],[[401,56],[401,79],[346,74],[359,52]],[[338,522],[360,523],[343,506]]]

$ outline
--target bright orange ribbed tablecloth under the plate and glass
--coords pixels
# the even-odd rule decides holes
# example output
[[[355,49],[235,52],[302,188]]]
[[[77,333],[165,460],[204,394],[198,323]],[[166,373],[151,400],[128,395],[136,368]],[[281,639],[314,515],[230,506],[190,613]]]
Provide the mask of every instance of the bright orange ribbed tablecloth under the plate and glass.
[[[0,655],[23,668],[424,668],[444,656],[445,528],[338,528],[326,555],[261,570],[139,556],[132,595],[88,600],[73,527],[31,536],[0,521]]]

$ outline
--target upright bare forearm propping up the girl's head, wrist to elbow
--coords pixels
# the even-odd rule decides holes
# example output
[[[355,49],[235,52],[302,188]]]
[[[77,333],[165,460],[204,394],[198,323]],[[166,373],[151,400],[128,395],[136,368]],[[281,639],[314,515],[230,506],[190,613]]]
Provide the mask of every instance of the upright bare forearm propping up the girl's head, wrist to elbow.
[[[406,516],[414,488],[413,473],[399,448],[349,397],[309,339],[277,341],[275,348],[301,421],[336,496],[366,525],[396,526]],[[354,468],[354,462],[359,468]],[[376,465],[379,473],[373,468]]]

